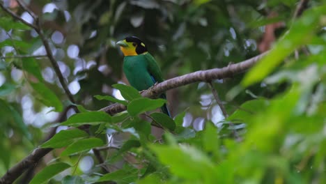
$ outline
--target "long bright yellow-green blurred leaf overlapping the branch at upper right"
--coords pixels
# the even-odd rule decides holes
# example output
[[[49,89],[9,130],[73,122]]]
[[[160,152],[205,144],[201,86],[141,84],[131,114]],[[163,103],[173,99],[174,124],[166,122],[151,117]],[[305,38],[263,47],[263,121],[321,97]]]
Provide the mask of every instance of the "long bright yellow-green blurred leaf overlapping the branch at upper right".
[[[306,10],[299,20],[295,21],[291,29],[282,40],[274,45],[271,51],[252,68],[242,80],[243,86],[249,86],[261,81],[284,61],[300,45],[311,41],[314,32],[318,29],[320,17],[325,15],[325,6]]]

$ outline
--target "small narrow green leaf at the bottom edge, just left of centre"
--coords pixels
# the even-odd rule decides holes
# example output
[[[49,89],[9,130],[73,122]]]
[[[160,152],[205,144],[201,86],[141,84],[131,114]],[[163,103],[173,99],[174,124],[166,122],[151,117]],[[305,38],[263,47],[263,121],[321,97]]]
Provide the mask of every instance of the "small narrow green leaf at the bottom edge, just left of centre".
[[[138,179],[138,169],[123,168],[118,171],[105,174],[98,181],[116,181],[118,183],[133,183]]]

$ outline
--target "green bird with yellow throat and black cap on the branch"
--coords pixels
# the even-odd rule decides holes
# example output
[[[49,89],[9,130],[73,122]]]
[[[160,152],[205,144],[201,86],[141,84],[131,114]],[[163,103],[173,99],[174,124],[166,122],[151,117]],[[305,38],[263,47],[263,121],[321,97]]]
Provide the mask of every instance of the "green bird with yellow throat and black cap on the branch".
[[[162,72],[157,65],[154,57],[147,51],[146,45],[135,36],[128,36],[124,40],[118,41],[116,45],[120,46],[125,58],[123,59],[123,72],[130,85],[138,91],[149,89],[157,82],[163,82]],[[160,98],[166,99],[166,94],[160,95]],[[169,115],[169,109],[164,104],[162,112]]]

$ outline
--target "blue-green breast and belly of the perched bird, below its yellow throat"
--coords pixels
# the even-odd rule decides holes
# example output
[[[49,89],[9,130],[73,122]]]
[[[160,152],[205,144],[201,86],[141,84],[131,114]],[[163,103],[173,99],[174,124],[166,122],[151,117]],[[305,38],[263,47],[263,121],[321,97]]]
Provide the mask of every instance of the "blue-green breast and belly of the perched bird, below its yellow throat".
[[[148,72],[148,62],[145,54],[125,56],[123,59],[123,72],[125,72],[130,85],[138,91],[146,90],[155,84],[152,77],[150,77],[150,72]]]

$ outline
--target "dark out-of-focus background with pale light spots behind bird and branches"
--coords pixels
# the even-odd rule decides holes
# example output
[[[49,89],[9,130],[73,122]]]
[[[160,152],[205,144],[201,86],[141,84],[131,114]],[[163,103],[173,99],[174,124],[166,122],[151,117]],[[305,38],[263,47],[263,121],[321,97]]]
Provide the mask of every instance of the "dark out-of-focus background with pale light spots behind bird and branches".
[[[141,38],[150,54],[157,60],[165,79],[197,70],[222,68],[270,49],[292,26],[299,1],[25,0],[24,2],[41,17],[42,29],[49,39],[54,57],[70,92],[74,95],[76,104],[88,110],[98,110],[110,103],[97,100],[94,95],[111,95],[123,99],[121,93],[111,85],[128,84],[122,71],[123,55],[116,47],[116,41],[126,36]],[[33,17],[24,12],[15,0],[3,0],[0,3],[9,7],[26,22],[33,23]],[[309,1],[310,7],[321,4],[323,1]],[[316,38],[323,40],[325,29],[317,32]],[[323,53],[324,43],[316,43],[317,45],[299,49],[300,56],[305,56],[305,53],[317,55]],[[57,125],[57,118],[65,112],[64,109],[67,109],[71,102],[47,59],[45,47],[36,31],[12,20],[3,10],[0,10],[0,48],[1,176],[8,167],[22,160],[33,148],[42,143],[49,130]],[[285,60],[290,63],[294,58],[295,55],[291,54]],[[28,62],[29,64],[26,64]],[[264,81],[238,91],[237,86],[244,75],[245,73],[241,73],[228,79],[213,81],[213,86],[229,114],[240,109],[240,105],[248,100],[265,99],[268,102],[269,99],[277,98],[287,91],[293,82],[291,79],[284,80],[279,77],[277,82]],[[292,77],[295,76],[297,74],[293,74]],[[323,76],[324,78],[320,78],[322,81],[325,79],[325,75]],[[305,77],[309,80],[312,74],[307,72]],[[47,100],[52,98],[52,95],[44,95],[30,84],[43,79],[47,89],[62,102],[63,106],[58,106],[59,111],[47,105]],[[316,86],[311,87],[311,93],[307,95],[304,105],[313,104],[311,96],[318,92]],[[318,94],[322,97],[319,96],[318,102],[325,102],[323,94],[325,81],[320,88],[322,89],[319,89]],[[237,91],[237,95],[232,95],[230,91]],[[223,129],[225,117],[205,82],[182,86],[168,91],[167,94],[172,114],[176,116],[185,112],[183,118],[185,127],[199,131],[203,130],[205,122],[212,121],[218,128]],[[228,98],[229,96],[233,98]],[[75,114],[74,109],[67,110],[65,118]],[[309,111],[308,107],[306,111]],[[310,111],[313,114],[314,109]],[[264,118],[260,120],[261,123],[265,122]],[[244,135],[247,132],[244,130],[247,125],[243,121],[234,122],[237,123],[235,129],[240,130],[240,136]],[[59,126],[56,131],[67,128]],[[323,128],[323,125],[319,128]],[[288,132],[284,132],[282,136],[286,137],[287,134]],[[286,140],[295,142],[298,139],[290,137]],[[304,155],[314,154],[309,152],[309,148],[304,151],[307,151],[303,153]],[[56,152],[60,150],[47,155],[43,162],[56,158]],[[300,155],[299,152],[297,154]],[[306,162],[309,162],[309,159],[306,158]],[[90,173],[95,167],[95,162],[92,155],[80,158],[77,172]],[[300,159],[297,162],[301,163]],[[325,164],[325,160],[323,163]],[[59,180],[61,176],[57,177]]]

